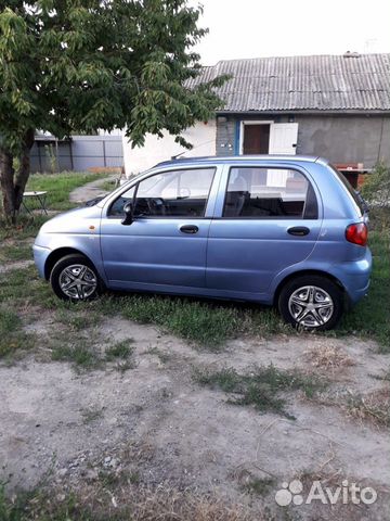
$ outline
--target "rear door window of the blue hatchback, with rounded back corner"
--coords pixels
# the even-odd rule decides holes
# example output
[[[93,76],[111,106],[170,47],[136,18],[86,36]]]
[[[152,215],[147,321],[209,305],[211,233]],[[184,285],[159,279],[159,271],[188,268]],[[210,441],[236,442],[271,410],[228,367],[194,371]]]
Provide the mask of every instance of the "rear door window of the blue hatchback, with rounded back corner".
[[[316,218],[316,208],[313,188],[298,170],[259,167],[230,170],[223,217]]]

